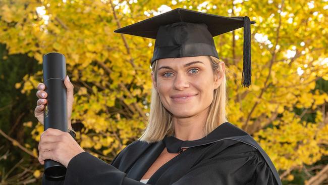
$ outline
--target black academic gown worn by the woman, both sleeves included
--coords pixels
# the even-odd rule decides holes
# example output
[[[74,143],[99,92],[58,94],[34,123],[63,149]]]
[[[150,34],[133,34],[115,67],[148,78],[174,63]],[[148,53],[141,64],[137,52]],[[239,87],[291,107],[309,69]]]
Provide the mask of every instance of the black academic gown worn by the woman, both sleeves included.
[[[181,141],[166,136],[151,144],[135,141],[111,164],[82,152],[69,162],[64,180],[51,181],[43,176],[42,184],[144,185],[141,177],[165,147],[170,153],[180,154],[162,165],[147,184],[282,184],[263,149],[248,133],[229,122],[199,140]],[[182,152],[183,148],[187,150]]]

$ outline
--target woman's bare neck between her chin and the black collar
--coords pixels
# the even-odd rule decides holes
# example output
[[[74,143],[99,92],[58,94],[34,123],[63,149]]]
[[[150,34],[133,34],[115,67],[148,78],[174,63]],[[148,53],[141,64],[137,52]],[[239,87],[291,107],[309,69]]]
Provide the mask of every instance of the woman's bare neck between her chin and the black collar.
[[[173,116],[175,137],[182,141],[193,141],[205,136],[204,126],[208,115],[208,110],[200,112],[190,117]]]

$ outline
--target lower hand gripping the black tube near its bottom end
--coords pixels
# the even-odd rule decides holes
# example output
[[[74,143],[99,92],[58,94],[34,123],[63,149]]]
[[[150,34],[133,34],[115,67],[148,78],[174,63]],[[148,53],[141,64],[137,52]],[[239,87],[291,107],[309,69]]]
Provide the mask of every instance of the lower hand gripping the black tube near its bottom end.
[[[84,152],[68,132],[54,128],[48,128],[41,134],[38,150],[42,165],[45,159],[51,159],[66,168],[73,157]]]

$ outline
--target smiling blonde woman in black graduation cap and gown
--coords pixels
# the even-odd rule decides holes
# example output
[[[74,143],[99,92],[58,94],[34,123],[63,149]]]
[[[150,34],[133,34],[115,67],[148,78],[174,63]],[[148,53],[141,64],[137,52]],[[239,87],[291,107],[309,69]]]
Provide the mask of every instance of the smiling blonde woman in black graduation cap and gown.
[[[212,20],[207,23],[208,19]],[[213,20],[228,21],[230,28],[210,27]],[[148,125],[111,164],[83,151],[69,133],[47,129],[41,134],[39,161],[56,160],[67,172],[61,181],[43,177],[43,184],[282,184],[266,153],[249,134],[227,122],[225,113],[226,68],[218,59],[212,36],[240,25],[249,29],[251,23],[245,18],[175,9],[116,30],[156,38]],[[247,68],[249,48],[245,61]],[[243,71],[246,86],[248,72]],[[69,78],[64,83],[71,111],[73,85]],[[41,122],[44,84],[38,89],[40,106],[35,115]]]

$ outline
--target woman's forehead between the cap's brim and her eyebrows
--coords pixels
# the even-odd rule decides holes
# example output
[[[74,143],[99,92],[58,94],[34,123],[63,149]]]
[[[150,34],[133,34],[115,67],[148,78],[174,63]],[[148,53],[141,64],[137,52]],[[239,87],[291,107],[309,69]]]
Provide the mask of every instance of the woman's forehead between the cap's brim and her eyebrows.
[[[200,61],[202,63],[209,64],[209,59],[207,56],[197,56],[197,57],[181,57],[181,58],[166,58],[159,59],[157,61],[157,66],[183,66],[190,62]],[[158,68],[157,67],[157,68]]]

